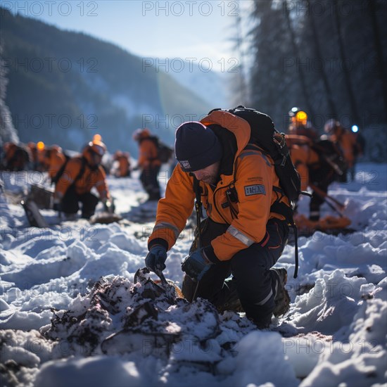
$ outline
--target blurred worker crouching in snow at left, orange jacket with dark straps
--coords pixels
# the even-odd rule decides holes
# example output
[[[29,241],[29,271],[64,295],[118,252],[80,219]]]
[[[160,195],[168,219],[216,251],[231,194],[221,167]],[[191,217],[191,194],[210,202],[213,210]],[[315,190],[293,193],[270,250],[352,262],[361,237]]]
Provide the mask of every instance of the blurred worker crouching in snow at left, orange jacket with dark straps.
[[[80,209],[79,203],[82,203],[82,217],[89,219],[94,215],[99,202],[99,199],[90,192],[93,187],[98,191],[103,204],[105,206],[110,204],[106,174],[101,167],[105,152],[105,144],[94,140],[83,148],[82,156],[68,160],[65,171],[55,186],[54,210],[72,217]]]

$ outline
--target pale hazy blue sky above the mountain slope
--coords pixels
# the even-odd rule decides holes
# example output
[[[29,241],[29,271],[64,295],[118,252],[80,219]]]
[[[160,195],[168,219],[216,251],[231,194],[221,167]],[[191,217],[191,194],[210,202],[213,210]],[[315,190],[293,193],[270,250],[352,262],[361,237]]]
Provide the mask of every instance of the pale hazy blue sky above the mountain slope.
[[[1,6],[66,30],[118,44],[141,58],[190,59],[213,70],[235,65],[230,41],[249,0],[0,1]],[[246,26],[245,26],[246,27]],[[209,58],[209,61],[206,59]],[[175,63],[178,63],[177,61]],[[227,69],[226,69],[227,70]]]

